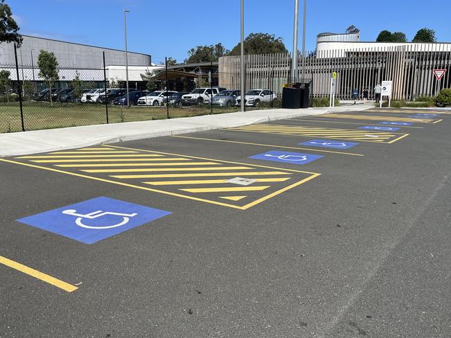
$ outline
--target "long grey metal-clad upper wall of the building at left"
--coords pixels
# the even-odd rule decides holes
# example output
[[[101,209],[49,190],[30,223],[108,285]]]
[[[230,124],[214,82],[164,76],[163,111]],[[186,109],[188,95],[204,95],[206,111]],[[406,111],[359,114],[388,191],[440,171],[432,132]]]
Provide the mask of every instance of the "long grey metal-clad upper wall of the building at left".
[[[17,49],[19,64],[37,64],[37,56],[40,50],[53,52],[58,60],[60,68],[70,69],[95,69],[103,68],[103,51],[105,52],[105,64],[125,64],[125,53],[117,49],[75,44],[73,42],[45,39],[22,35],[24,40],[21,48]],[[32,60],[33,58],[33,60]],[[15,64],[14,45],[0,45],[0,64]],[[128,52],[128,64],[130,66],[151,66],[151,55]]]

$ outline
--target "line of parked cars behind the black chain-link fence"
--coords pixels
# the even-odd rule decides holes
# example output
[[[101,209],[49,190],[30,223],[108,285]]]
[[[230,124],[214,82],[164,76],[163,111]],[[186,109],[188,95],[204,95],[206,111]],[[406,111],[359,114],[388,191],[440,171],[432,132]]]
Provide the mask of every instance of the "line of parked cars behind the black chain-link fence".
[[[60,102],[82,102],[101,103],[108,105],[127,105],[127,94],[124,88],[109,89],[83,89],[81,98],[75,97],[75,91],[71,88],[65,89],[44,89],[33,95],[33,100],[49,101],[50,96],[53,101]],[[139,106],[162,106],[171,105],[173,107],[187,107],[192,105],[212,104],[221,107],[233,107],[241,105],[240,91],[237,89],[228,90],[223,87],[201,87],[190,93],[179,91],[140,91],[129,89],[128,104]],[[251,89],[246,92],[244,103],[246,107],[257,107],[260,103],[271,103],[276,100],[277,95],[269,89]]]

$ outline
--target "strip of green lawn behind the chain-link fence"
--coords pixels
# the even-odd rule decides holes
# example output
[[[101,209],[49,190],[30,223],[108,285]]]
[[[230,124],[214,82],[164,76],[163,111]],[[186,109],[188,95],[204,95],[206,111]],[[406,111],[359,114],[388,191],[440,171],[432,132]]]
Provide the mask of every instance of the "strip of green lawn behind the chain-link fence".
[[[213,107],[213,114],[237,112],[239,108]],[[80,103],[24,102],[25,130],[40,130],[106,123],[105,105]],[[169,107],[169,117],[179,118],[210,114],[210,106]],[[166,107],[108,106],[110,123],[167,118]],[[22,131],[19,103],[0,103],[0,132]]]

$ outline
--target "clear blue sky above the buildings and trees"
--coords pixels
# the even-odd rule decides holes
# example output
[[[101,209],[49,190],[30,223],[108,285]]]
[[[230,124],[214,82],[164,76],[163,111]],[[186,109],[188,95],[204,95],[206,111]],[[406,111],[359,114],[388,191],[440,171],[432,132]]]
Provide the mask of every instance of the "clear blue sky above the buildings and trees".
[[[240,37],[241,0],[6,0],[19,33],[106,48],[124,49],[124,9],[128,50],[178,62],[196,46],[221,42],[232,49]],[[169,3],[169,5],[167,5]],[[303,0],[299,0],[302,47]],[[380,3],[376,5],[376,3]],[[439,42],[451,42],[451,0],[307,0],[306,50],[316,35],[343,33],[350,25],[361,41],[375,41],[381,30],[400,31],[411,41],[420,28],[432,28]],[[293,48],[294,0],[244,0],[244,34],[269,33]]]

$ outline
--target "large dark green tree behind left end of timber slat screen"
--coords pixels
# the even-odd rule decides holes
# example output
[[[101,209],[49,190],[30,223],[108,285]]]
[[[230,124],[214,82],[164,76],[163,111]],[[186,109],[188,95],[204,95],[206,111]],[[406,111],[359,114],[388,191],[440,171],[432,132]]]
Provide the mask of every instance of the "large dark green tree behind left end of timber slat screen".
[[[228,55],[239,55],[241,52],[241,43],[237,44]],[[273,54],[288,53],[283,43],[282,37],[276,38],[275,35],[266,33],[250,33],[244,39],[245,54]]]

